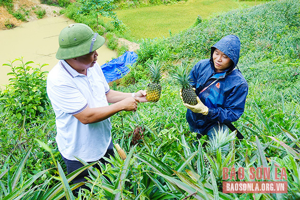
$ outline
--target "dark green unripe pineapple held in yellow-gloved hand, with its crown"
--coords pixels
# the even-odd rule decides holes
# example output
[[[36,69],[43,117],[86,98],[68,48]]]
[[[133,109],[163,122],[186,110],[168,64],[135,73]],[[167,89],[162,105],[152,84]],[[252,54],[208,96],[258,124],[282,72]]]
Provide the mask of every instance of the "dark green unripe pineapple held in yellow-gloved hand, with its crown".
[[[176,78],[181,85],[181,93],[183,102],[189,105],[196,105],[197,102],[197,95],[194,90],[192,90],[190,82],[190,76],[186,69],[186,65],[181,64],[176,66],[176,69],[173,73],[174,78]]]

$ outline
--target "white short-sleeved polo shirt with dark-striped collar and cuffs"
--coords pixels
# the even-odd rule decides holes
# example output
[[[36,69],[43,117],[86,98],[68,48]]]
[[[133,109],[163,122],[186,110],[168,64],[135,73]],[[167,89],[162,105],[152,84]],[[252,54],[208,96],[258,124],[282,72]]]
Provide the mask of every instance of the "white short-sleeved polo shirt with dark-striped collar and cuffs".
[[[98,63],[78,73],[60,60],[47,77],[47,94],[55,112],[56,142],[59,152],[68,160],[75,157],[85,162],[99,160],[108,149],[111,138],[110,118],[92,124],[82,124],[73,115],[87,106],[108,106],[106,95],[110,87]]]

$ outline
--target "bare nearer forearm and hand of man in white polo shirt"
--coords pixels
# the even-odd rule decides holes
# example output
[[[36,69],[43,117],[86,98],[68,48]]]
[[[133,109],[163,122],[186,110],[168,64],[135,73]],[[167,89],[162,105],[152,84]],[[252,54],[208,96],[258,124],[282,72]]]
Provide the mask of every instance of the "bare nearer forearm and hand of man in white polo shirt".
[[[128,93],[130,94],[130,93]],[[85,108],[81,113],[73,115],[82,124],[91,124],[103,121],[109,117],[115,115],[121,110],[136,111],[138,108],[139,100],[137,98],[125,98],[117,103],[104,107]]]

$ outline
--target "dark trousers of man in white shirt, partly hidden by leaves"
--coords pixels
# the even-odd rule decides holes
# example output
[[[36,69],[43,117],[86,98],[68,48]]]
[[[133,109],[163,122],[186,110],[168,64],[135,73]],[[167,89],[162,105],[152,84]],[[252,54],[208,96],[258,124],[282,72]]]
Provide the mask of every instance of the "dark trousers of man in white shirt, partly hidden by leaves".
[[[103,155],[103,157],[106,157],[106,158],[110,158],[110,155],[112,157],[114,157],[114,150],[113,150],[113,141],[111,142],[108,150],[106,151],[106,153]],[[66,166],[67,166],[67,172],[68,174],[72,173],[73,171],[79,169],[80,167],[83,167],[84,165],[82,163],[80,163],[79,161],[71,161],[71,160],[68,160],[66,158],[63,158],[63,156],[61,155],[62,157],[62,160],[66,163]],[[103,158],[99,159],[98,160],[99,162],[103,163],[104,165],[108,162],[106,162]],[[95,161],[94,161],[95,162]],[[93,163],[93,162],[88,162],[89,164],[90,163]],[[93,165],[93,167],[100,169],[100,166],[98,164],[95,164]],[[84,181],[87,181],[84,177],[86,176],[89,176],[89,172],[88,172],[88,169],[82,171],[79,175],[77,175],[74,179],[73,179],[73,184],[75,183],[80,183],[80,182],[84,182]],[[75,192],[77,193],[79,191],[80,188],[85,188],[85,189],[89,189],[87,186],[83,185],[77,189],[75,189]]]

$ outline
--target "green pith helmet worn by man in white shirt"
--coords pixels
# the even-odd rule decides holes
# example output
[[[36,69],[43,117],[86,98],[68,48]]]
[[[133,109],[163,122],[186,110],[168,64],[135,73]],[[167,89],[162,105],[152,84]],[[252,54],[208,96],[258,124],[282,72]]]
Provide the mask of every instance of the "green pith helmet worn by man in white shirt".
[[[58,42],[59,48],[56,58],[66,60],[83,56],[99,49],[104,44],[105,39],[98,33],[94,33],[85,24],[71,24],[61,30]]]

